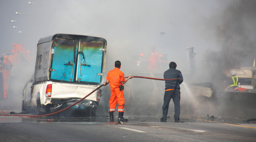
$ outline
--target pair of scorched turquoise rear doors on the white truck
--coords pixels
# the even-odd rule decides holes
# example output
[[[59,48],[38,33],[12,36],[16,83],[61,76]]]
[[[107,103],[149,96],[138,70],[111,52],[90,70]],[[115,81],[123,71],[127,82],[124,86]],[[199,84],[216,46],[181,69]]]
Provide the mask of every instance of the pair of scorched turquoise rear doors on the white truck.
[[[75,42],[76,41],[76,42]],[[54,40],[51,79],[59,81],[100,83],[103,64],[103,42]]]

